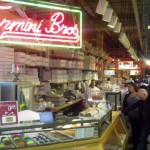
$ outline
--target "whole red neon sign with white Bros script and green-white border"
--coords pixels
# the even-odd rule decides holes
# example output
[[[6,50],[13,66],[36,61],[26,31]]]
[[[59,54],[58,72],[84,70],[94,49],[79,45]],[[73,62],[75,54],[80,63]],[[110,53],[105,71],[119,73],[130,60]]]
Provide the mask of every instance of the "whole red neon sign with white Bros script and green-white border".
[[[0,3],[0,13],[3,14],[0,17],[0,43],[81,48],[82,12],[80,10],[30,2],[25,6],[26,11],[18,14],[22,10],[13,3],[9,4],[3,6],[3,3]],[[35,15],[37,17],[33,18]]]

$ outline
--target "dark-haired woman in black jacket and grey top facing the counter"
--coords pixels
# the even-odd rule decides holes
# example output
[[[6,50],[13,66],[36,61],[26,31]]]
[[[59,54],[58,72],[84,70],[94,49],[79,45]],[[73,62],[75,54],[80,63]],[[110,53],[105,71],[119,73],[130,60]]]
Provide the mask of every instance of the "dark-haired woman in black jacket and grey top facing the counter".
[[[137,95],[137,86],[133,82],[129,82],[127,84],[129,93],[125,95],[123,100],[123,109],[130,107],[139,101],[139,97]],[[138,146],[138,138],[140,135],[140,126],[139,126],[139,117],[138,117],[138,108],[124,113],[125,119],[130,121],[131,129],[132,129],[132,144],[133,150],[137,149]]]

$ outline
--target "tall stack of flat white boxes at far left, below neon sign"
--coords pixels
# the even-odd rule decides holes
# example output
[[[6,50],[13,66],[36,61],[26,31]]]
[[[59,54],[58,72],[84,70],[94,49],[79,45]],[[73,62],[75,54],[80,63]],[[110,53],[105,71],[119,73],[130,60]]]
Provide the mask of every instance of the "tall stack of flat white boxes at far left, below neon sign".
[[[10,74],[14,64],[14,49],[0,47],[0,81],[12,81],[14,76]]]

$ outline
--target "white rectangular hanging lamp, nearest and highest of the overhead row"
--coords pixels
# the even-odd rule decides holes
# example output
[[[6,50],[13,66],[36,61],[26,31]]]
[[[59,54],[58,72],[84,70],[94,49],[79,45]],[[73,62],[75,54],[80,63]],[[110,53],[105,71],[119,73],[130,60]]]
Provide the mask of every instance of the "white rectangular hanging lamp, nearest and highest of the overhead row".
[[[95,12],[97,14],[104,15],[107,6],[108,6],[108,1],[106,1],[106,0],[99,0]]]

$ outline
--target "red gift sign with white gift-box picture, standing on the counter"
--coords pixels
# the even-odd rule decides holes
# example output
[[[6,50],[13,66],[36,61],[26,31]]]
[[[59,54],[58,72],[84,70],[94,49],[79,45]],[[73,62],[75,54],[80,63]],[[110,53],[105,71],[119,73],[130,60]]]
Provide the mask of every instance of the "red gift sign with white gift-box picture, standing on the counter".
[[[16,101],[0,102],[0,125],[18,123],[18,105]]]

